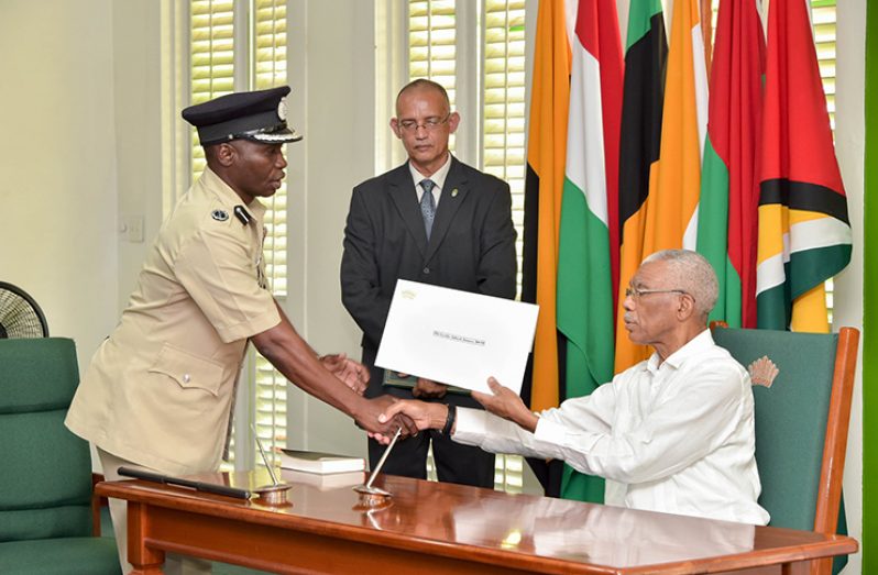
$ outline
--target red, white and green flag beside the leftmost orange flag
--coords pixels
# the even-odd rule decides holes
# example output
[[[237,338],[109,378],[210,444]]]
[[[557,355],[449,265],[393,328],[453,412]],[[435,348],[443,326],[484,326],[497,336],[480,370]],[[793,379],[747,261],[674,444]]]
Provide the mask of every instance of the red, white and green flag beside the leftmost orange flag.
[[[558,253],[558,331],[567,397],[613,378],[613,257],[623,60],[615,0],[580,0],[572,42]],[[613,245],[613,248],[611,248]],[[566,467],[561,496],[602,502],[604,482]]]

